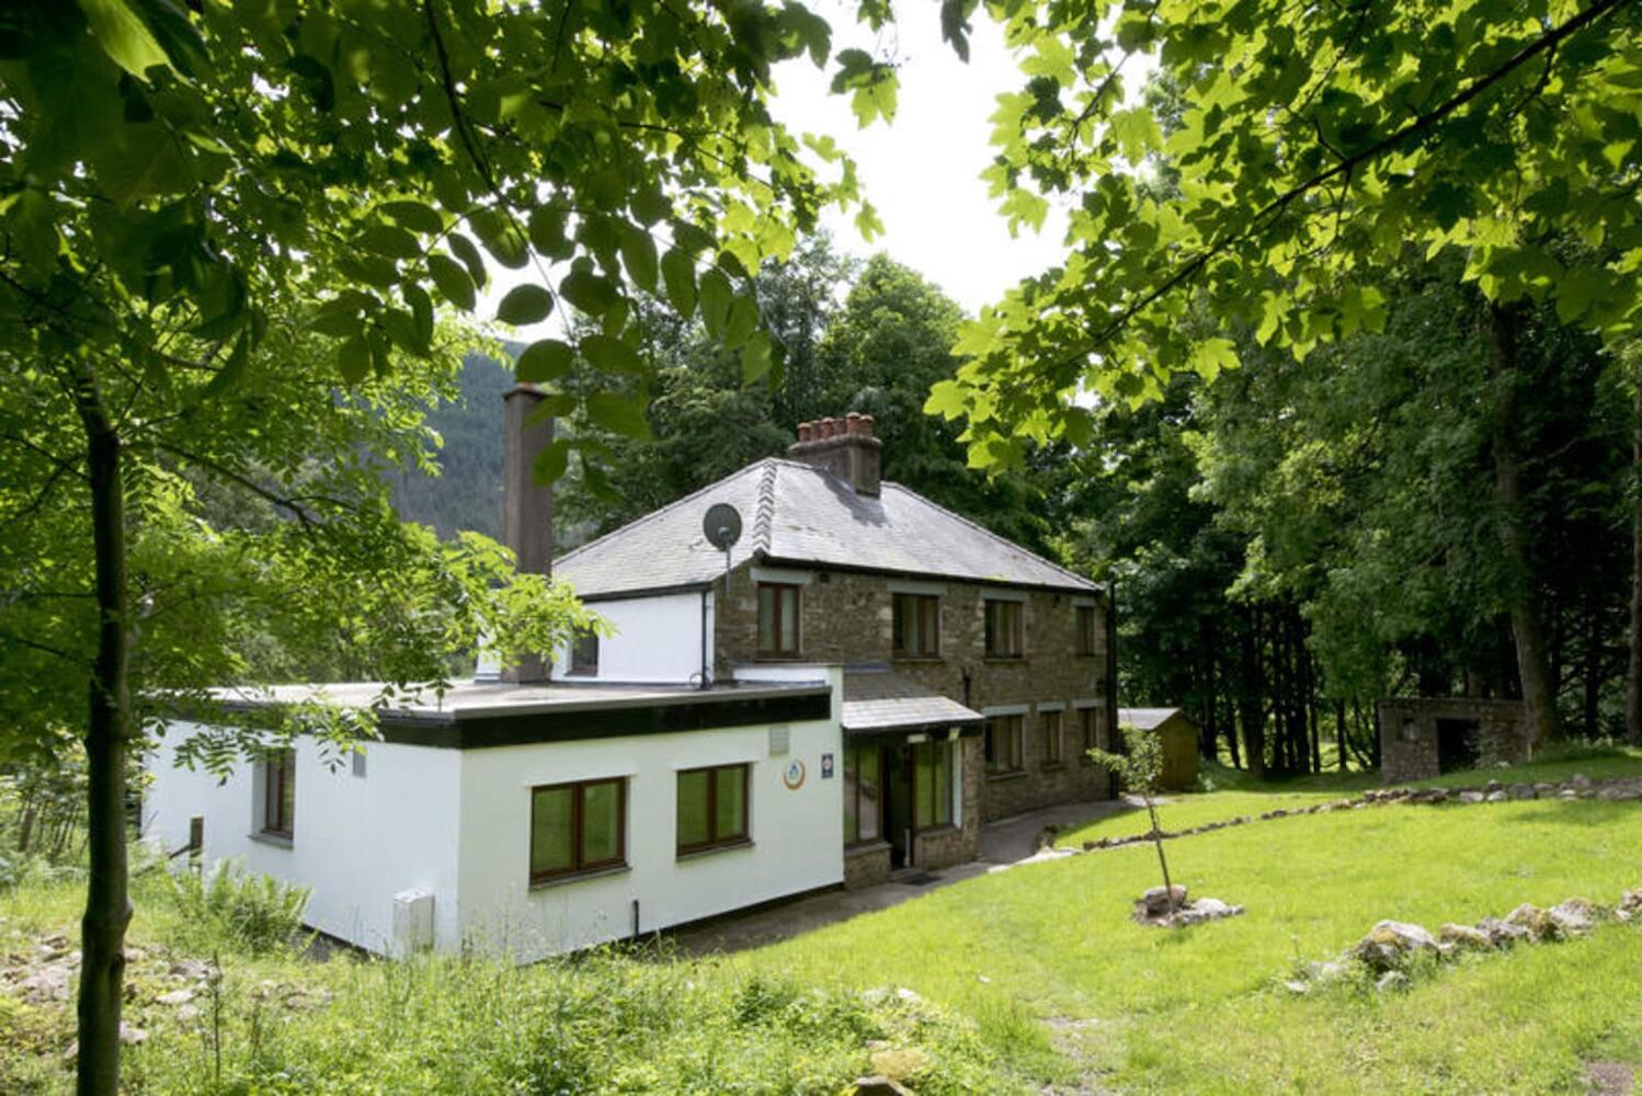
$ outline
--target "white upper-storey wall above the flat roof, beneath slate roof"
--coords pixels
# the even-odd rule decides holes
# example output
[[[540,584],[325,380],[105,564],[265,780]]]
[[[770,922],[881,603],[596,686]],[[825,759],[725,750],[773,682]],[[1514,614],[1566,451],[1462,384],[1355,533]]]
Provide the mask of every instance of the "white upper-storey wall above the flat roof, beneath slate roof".
[[[606,684],[691,684],[699,681],[701,592],[588,602],[614,625],[599,638],[599,673],[570,674],[570,648],[553,663],[553,679]],[[706,666],[713,666],[713,592],[706,596]]]

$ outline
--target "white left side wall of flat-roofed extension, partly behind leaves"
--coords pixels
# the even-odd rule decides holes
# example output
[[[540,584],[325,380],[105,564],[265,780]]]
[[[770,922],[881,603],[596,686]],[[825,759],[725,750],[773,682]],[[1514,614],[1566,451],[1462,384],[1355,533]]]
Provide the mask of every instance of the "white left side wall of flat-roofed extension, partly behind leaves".
[[[386,742],[366,745],[365,776],[348,758],[332,769],[314,742],[296,745],[296,819],[289,847],[253,837],[256,766],[227,781],[172,765],[174,745],[194,733],[172,724],[148,758],[143,835],[172,852],[187,845],[189,819],[205,817],[205,861],[238,856],[250,871],[314,888],[307,922],[373,952],[392,950],[394,894],[433,894],[433,940],[460,943],[456,835],[461,755]],[[181,858],[179,858],[181,861]]]

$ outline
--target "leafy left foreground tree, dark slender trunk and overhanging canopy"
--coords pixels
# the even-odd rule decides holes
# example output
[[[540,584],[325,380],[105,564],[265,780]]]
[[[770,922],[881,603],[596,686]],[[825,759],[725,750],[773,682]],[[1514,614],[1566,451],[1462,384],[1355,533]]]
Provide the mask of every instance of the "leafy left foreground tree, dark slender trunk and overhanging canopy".
[[[502,297],[501,320],[568,305],[599,323],[575,346],[532,345],[522,381],[642,372],[629,282],[665,287],[760,374],[770,343],[749,271],[785,254],[824,205],[857,199],[834,148],[806,149],[768,115],[770,66],[805,54],[828,64],[831,36],[798,3],[84,0],[0,16],[0,348],[8,381],[28,386],[8,390],[3,415],[8,443],[28,454],[16,459],[33,461],[31,479],[10,482],[33,487],[16,499],[26,514],[82,484],[71,497],[84,522],[64,528],[95,548],[87,589],[62,591],[92,594],[82,623],[97,635],[82,1091],[113,1091],[118,1070],[120,758],[136,732],[131,607],[146,597],[128,532],[146,502],[135,489],[146,486],[143,448],[161,443],[154,427],[181,430],[195,409],[209,418],[255,387],[287,351],[269,340],[294,325],[330,340],[323,356],[296,359],[294,381],[315,390],[432,356],[435,299],[471,312],[488,263],[534,271]],[[888,77],[844,51],[834,85],[870,118],[893,110]],[[859,223],[875,223],[869,207]],[[545,413],[563,413],[578,390],[555,394]],[[72,415],[33,420],[38,402]],[[627,430],[640,409],[606,397],[583,410]],[[233,425],[277,433],[248,412]],[[299,527],[325,523],[294,456],[246,436],[213,435],[200,451],[202,435],[186,433],[187,445],[166,441],[159,466],[259,486]],[[253,454],[266,468],[251,468]],[[568,456],[557,445],[537,473],[553,477]],[[284,494],[287,484],[297,489]],[[427,561],[430,581],[448,578],[433,559],[460,563],[386,520],[345,525],[337,556],[312,551],[302,566],[340,581],[348,553],[383,564],[396,543]],[[456,586],[478,591],[496,558],[473,543],[452,551],[475,556],[473,582]]]

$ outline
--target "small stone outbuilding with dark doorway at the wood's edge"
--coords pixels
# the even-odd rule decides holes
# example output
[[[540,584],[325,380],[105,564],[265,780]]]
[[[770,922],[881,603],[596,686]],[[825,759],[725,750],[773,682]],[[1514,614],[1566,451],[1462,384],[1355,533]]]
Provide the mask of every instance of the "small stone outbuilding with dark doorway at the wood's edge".
[[[1396,697],[1376,706],[1379,773],[1387,784],[1479,765],[1520,765],[1532,748],[1522,701]]]

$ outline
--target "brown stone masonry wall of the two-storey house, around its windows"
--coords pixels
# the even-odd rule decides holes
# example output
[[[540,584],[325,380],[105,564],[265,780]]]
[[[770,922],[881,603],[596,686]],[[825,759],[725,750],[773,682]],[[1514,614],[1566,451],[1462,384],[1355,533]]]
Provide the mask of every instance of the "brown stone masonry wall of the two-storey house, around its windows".
[[[977,712],[988,707],[1026,706],[1023,714],[1021,773],[980,781],[982,820],[993,820],[1077,799],[1110,794],[1107,773],[1082,760],[1077,701],[1102,701],[1097,733],[1110,743],[1107,727],[1107,655],[1103,620],[1095,627],[1092,655],[1076,655],[1077,614],[1074,604],[1084,596],[1044,591],[1018,591],[1025,602],[1025,658],[995,660],[985,656],[985,597],[992,587],[979,582],[933,581],[944,587],[941,596],[939,658],[903,660],[890,653],[893,628],[892,581],[882,574],[810,569],[800,609],[800,661],[888,663],[895,673],[918,681],[931,691],[959,701]],[[734,664],[757,661],[759,605],[752,566],[731,573],[729,594],[716,602],[714,648],[718,674],[727,676]],[[1097,607],[1103,612],[1103,602]],[[967,679],[967,687],[965,687]],[[1043,758],[1039,706],[1064,704],[1061,715],[1061,765]],[[977,779],[982,769],[982,745],[965,748],[964,771]],[[974,817],[965,779],[964,817]],[[967,829],[967,827],[965,827]],[[939,837],[939,835],[931,835]],[[964,838],[969,843],[967,837]],[[931,842],[931,853],[934,845]],[[975,838],[979,850],[979,835]],[[974,855],[974,852],[969,852]]]

